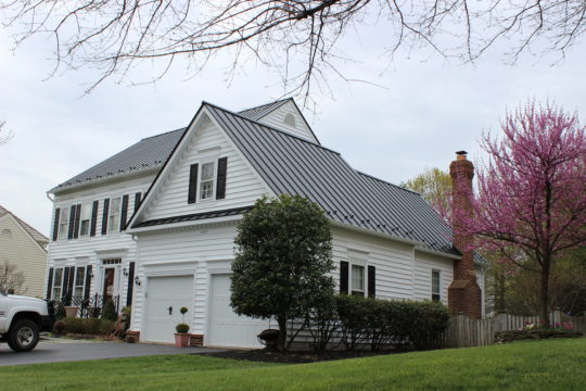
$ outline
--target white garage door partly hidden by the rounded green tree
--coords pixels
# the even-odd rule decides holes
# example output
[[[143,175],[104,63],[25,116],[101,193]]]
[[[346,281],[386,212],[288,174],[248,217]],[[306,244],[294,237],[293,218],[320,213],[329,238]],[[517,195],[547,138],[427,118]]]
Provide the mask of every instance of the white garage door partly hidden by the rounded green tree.
[[[269,321],[234,314],[230,307],[230,275],[213,275],[211,289],[206,344],[211,346],[263,348],[256,336],[268,328]],[[275,327],[275,325],[272,326]]]

